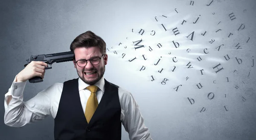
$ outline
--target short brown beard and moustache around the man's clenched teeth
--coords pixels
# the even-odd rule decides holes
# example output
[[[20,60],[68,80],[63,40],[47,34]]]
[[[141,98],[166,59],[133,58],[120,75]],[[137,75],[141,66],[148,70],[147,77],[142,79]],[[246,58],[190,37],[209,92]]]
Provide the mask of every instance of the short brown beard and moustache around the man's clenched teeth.
[[[94,69],[90,69],[88,71],[93,71],[93,70]],[[104,73],[105,73],[105,65],[100,68],[100,75],[98,73],[98,70],[96,70],[97,77],[95,79],[86,79],[84,77],[84,72],[81,73],[81,75],[80,75],[79,74],[80,72],[77,69],[76,69],[76,71],[77,71],[77,74],[78,74],[79,78],[81,78],[81,80],[84,81],[84,83],[93,85],[93,84],[97,83],[102,78],[102,76],[104,75]]]

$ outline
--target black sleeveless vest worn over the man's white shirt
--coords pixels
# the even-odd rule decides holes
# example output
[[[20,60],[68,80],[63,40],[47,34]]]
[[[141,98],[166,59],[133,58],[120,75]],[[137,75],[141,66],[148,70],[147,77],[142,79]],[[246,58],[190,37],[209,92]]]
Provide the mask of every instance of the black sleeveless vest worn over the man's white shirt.
[[[118,86],[105,80],[105,92],[87,123],[81,106],[78,78],[65,81],[54,119],[55,140],[121,140],[120,115]]]

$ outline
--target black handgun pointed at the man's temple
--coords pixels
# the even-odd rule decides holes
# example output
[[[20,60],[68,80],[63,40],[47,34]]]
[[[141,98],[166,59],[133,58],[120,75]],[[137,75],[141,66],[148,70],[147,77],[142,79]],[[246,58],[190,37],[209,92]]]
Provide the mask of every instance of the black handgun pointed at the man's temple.
[[[45,67],[45,69],[51,69],[52,63],[73,61],[73,56],[74,56],[74,53],[72,51],[63,52],[63,53],[40,54],[36,56],[30,56],[30,58],[27,59],[26,61],[28,62],[27,64],[29,64],[32,61],[42,61],[48,64],[48,67]],[[26,67],[27,64],[25,64],[24,67]],[[30,83],[38,83],[42,81],[43,79],[39,76],[29,79]]]

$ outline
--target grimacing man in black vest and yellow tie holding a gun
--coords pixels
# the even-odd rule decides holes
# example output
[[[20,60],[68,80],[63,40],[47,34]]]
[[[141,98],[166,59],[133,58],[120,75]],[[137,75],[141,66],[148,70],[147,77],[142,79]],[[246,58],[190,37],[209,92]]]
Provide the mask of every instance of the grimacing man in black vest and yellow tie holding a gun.
[[[55,83],[23,102],[26,81],[44,78],[47,67],[29,63],[5,95],[5,124],[20,127],[52,115],[55,140],[121,140],[121,123],[130,140],[152,140],[131,93],[103,77],[108,62],[104,40],[87,31],[73,40],[70,50],[79,78]]]

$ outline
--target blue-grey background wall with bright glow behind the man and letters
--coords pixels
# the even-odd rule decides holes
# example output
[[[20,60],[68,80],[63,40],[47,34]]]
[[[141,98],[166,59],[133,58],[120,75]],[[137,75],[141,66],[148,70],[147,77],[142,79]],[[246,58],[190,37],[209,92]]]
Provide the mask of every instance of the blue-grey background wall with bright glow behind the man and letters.
[[[73,39],[90,30],[107,43],[105,78],[134,95],[154,140],[254,140],[256,2],[214,0],[206,6],[210,2],[194,0],[192,6],[189,0],[1,0],[0,100],[3,103],[4,94],[30,55],[69,51]],[[231,13],[236,19],[230,19]],[[200,18],[193,24],[197,17]],[[181,25],[183,20],[187,22]],[[241,24],[245,28],[238,30]],[[176,27],[180,34],[174,35],[172,30]],[[145,31],[143,35],[139,34],[141,29]],[[218,29],[221,31],[216,32]],[[156,32],[154,36],[150,35],[152,30]],[[191,41],[189,34],[193,31]],[[233,35],[228,37],[230,32]],[[140,39],[144,48],[135,50],[133,42]],[[211,44],[212,39],[215,42]],[[178,42],[179,48],[172,41]],[[242,49],[236,49],[238,43]],[[218,51],[216,48],[222,44]],[[204,53],[205,48],[208,54]],[[228,61],[225,55],[230,57]],[[137,59],[128,61],[134,57]],[[173,62],[173,57],[178,62]],[[159,64],[154,65],[159,59]],[[193,68],[187,68],[189,62]],[[212,68],[217,64],[221,64],[219,69],[224,68],[218,73]],[[143,66],[145,70],[140,71]],[[24,101],[55,82],[77,78],[72,62],[55,63],[52,67],[46,71],[44,82],[27,82]],[[166,84],[162,82],[164,78],[168,79]],[[199,83],[201,89],[197,87]],[[195,103],[191,104],[188,98]],[[3,115],[2,104],[1,140],[53,139],[51,116],[12,128],[3,123]],[[122,140],[128,140],[124,129]]]

